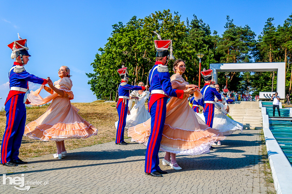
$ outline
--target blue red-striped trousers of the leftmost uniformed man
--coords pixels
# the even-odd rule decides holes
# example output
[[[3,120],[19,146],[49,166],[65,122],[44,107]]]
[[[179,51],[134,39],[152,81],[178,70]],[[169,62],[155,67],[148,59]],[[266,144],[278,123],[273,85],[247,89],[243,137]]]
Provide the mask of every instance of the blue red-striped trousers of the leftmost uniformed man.
[[[1,144],[1,164],[19,159],[26,120],[23,98],[24,94],[15,95],[5,105],[6,127]]]

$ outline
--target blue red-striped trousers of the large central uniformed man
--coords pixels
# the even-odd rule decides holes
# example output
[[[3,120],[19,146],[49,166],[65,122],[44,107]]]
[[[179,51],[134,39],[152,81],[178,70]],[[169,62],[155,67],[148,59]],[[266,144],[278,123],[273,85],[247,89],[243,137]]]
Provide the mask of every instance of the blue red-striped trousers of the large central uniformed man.
[[[151,133],[145,155],[145,172],[160,170],[158,152],[166,117],[167,97],[157,100],[150,109]]]

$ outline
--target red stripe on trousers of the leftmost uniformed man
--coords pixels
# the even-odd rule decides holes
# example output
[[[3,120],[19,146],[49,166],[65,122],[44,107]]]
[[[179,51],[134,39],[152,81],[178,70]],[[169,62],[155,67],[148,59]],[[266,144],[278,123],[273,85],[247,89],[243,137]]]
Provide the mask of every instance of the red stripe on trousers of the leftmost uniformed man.
[[[3,147],[3,150],[2,150],[2,151],[4,151],[4,154],[1,154],[3,163],[7,162],[6,161],[7,144],[8,144],[9,137],[11,135],[12,128],[13,128],[13,123],[14,123],[14,118],[15,118],[15,110],[16,110],[16,105],[17,105],[17,99],[18,99],[18,95],[15,95],[15,96],[13,96],[11,98],[10,109],[9,109],[9,120],[8,120],[6,134],[4,134],[5,140],[4,140],[4,147]],[[13,107],[13,109],[12,109],[12,107]]]

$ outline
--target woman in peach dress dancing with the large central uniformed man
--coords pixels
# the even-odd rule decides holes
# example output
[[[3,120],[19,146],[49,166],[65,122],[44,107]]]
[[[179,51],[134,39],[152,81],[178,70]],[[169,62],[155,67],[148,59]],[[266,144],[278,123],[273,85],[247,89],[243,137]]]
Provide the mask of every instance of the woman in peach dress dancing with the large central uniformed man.
[[[174,89],[187,89],[194,87],[182,77],[185,72],[185,62],[176,60],[173,64],[175,74],[171,76],[171,85]],[[184,95],[183,99],[172,97],[166,105],[166,119],[162,132],[160,151],[165,151],[162,160],[163,165],[170,165],[175,170],[181,170],[177,164],[175,155],[198,155],[210,152],[211,144],[216,140],[223,140],[225,137],[220,135],[218,130],[206,125],[197,114],[192,110],[188,103],[189,95]],[[195,100],[202,98],[202,94],[197,90],[194,93]],[[150,135],[151,119],[142,124],[130,127],[128,136],[138,143],[147,145]]]

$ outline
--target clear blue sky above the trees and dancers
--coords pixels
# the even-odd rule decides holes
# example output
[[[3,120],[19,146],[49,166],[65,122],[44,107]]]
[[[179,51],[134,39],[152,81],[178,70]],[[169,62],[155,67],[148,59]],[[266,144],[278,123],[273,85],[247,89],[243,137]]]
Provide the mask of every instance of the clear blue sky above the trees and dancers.
[[[268,17],[282,25],[291,15],[292,1],[2,1],[0,0],[0,104],[9,91],[8,71],[13,61],[7,44],[17,40],[17,33],[27,38],[30,57],[25,69],[39,77],[58,80],[58,69],[66,65],[73,75],[72,102],[92,102],[95,95],[85,73],[93,72],[90,64],[98,48],[104,47],[112,25],[155,11],[178,11],[181,20],[193,14],[209,24],[211,31],[224,32],[226,15],[234,24],[251,27],[257,35]],[[31,84],[35,90],[38,84]],[[46,95],[46,93],[41,93]]]

